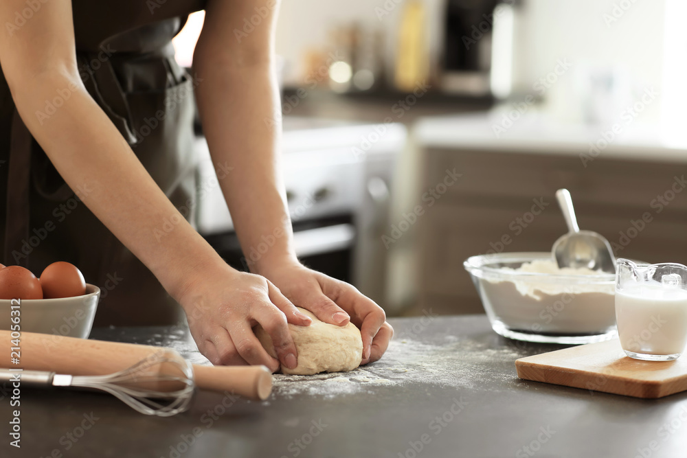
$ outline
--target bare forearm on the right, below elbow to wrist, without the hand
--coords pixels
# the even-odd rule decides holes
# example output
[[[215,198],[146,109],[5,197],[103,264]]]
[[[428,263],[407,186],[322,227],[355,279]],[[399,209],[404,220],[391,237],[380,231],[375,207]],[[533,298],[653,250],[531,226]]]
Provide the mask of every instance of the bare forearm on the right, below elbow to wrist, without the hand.
[[[194,70],[202,80],[196,97],[212,159],[232,168],[220,183],[251,271],[295,262],[279,167],[280,102],[269,62],[215,62]]]

